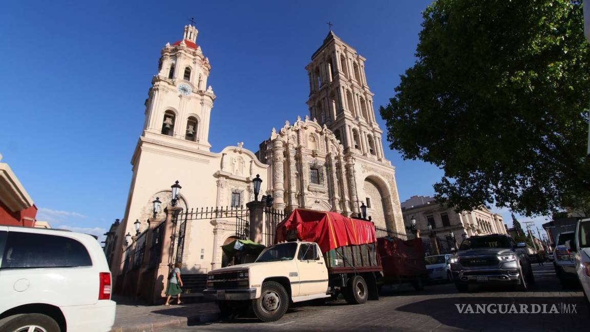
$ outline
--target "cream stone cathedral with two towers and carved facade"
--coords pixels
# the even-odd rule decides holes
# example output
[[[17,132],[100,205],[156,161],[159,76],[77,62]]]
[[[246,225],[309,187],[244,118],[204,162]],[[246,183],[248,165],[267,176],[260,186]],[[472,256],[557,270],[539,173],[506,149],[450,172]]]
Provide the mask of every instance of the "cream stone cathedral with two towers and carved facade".
[[[169,204],[176,180],[182,185],[178,206],[185,211],[243,206],[254,200],[253,179],[260,175],[260,193],[274,197],[275,209],[356,216],[365,204],[376,226],[405,232],[395,168],[383,155],[365,58],[330,31],[306,66],[309,115],[273,128],[255,153],[241,143],[211,152],[209,119],[216,96],[207,86],[211,64],[197,35],[187,25],[182,40],[161,52],[131,160],[126,210],[114,237],[114,275],[122,268],[124,236],[135,234],[136,220],[140,232],[148,227],[152,202],[158,198]],[[165,218],[163,209],[155,217]],[[187,223],[183,272],[205,274],[221,267],[220,246],[235,232],[228,220]]]

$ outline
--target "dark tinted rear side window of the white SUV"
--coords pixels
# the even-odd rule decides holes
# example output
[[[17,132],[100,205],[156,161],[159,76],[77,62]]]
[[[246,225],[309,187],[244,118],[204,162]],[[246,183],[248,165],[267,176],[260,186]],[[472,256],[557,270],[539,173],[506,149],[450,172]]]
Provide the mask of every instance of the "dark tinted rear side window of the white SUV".
[[[84,245],[69,237],[8,232],[3,269],[92,266]]]

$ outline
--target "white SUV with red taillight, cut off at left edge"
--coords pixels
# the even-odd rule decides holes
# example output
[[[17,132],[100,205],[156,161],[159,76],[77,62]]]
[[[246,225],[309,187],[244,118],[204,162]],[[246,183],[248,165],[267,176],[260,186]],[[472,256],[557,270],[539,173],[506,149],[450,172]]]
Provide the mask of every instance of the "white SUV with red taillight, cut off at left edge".
[[[0,226],[0,331],[108,332],[116,303],[94,237]]]

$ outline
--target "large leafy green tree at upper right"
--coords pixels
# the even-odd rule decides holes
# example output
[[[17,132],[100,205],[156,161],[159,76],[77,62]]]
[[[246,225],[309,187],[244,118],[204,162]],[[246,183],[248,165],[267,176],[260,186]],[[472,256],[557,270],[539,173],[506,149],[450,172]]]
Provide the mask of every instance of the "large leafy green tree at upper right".
[[[438,0],[380,112],[392,149],[444,170],[437,198],[530,216],[590,197],[581,1]]]

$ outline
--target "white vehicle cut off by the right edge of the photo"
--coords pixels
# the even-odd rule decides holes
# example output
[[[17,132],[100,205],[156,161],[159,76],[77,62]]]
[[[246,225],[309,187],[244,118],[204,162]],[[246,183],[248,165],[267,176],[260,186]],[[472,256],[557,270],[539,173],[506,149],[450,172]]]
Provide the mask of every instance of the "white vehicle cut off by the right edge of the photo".
[[[573,260],[576,262],[576,274],[586,300],[590,303],[590,219],[579,220],[576,224],[575,245],[569,241],[567,243],[570,250],[575,250]],[[575,246],[575,248],[572,248]]]

